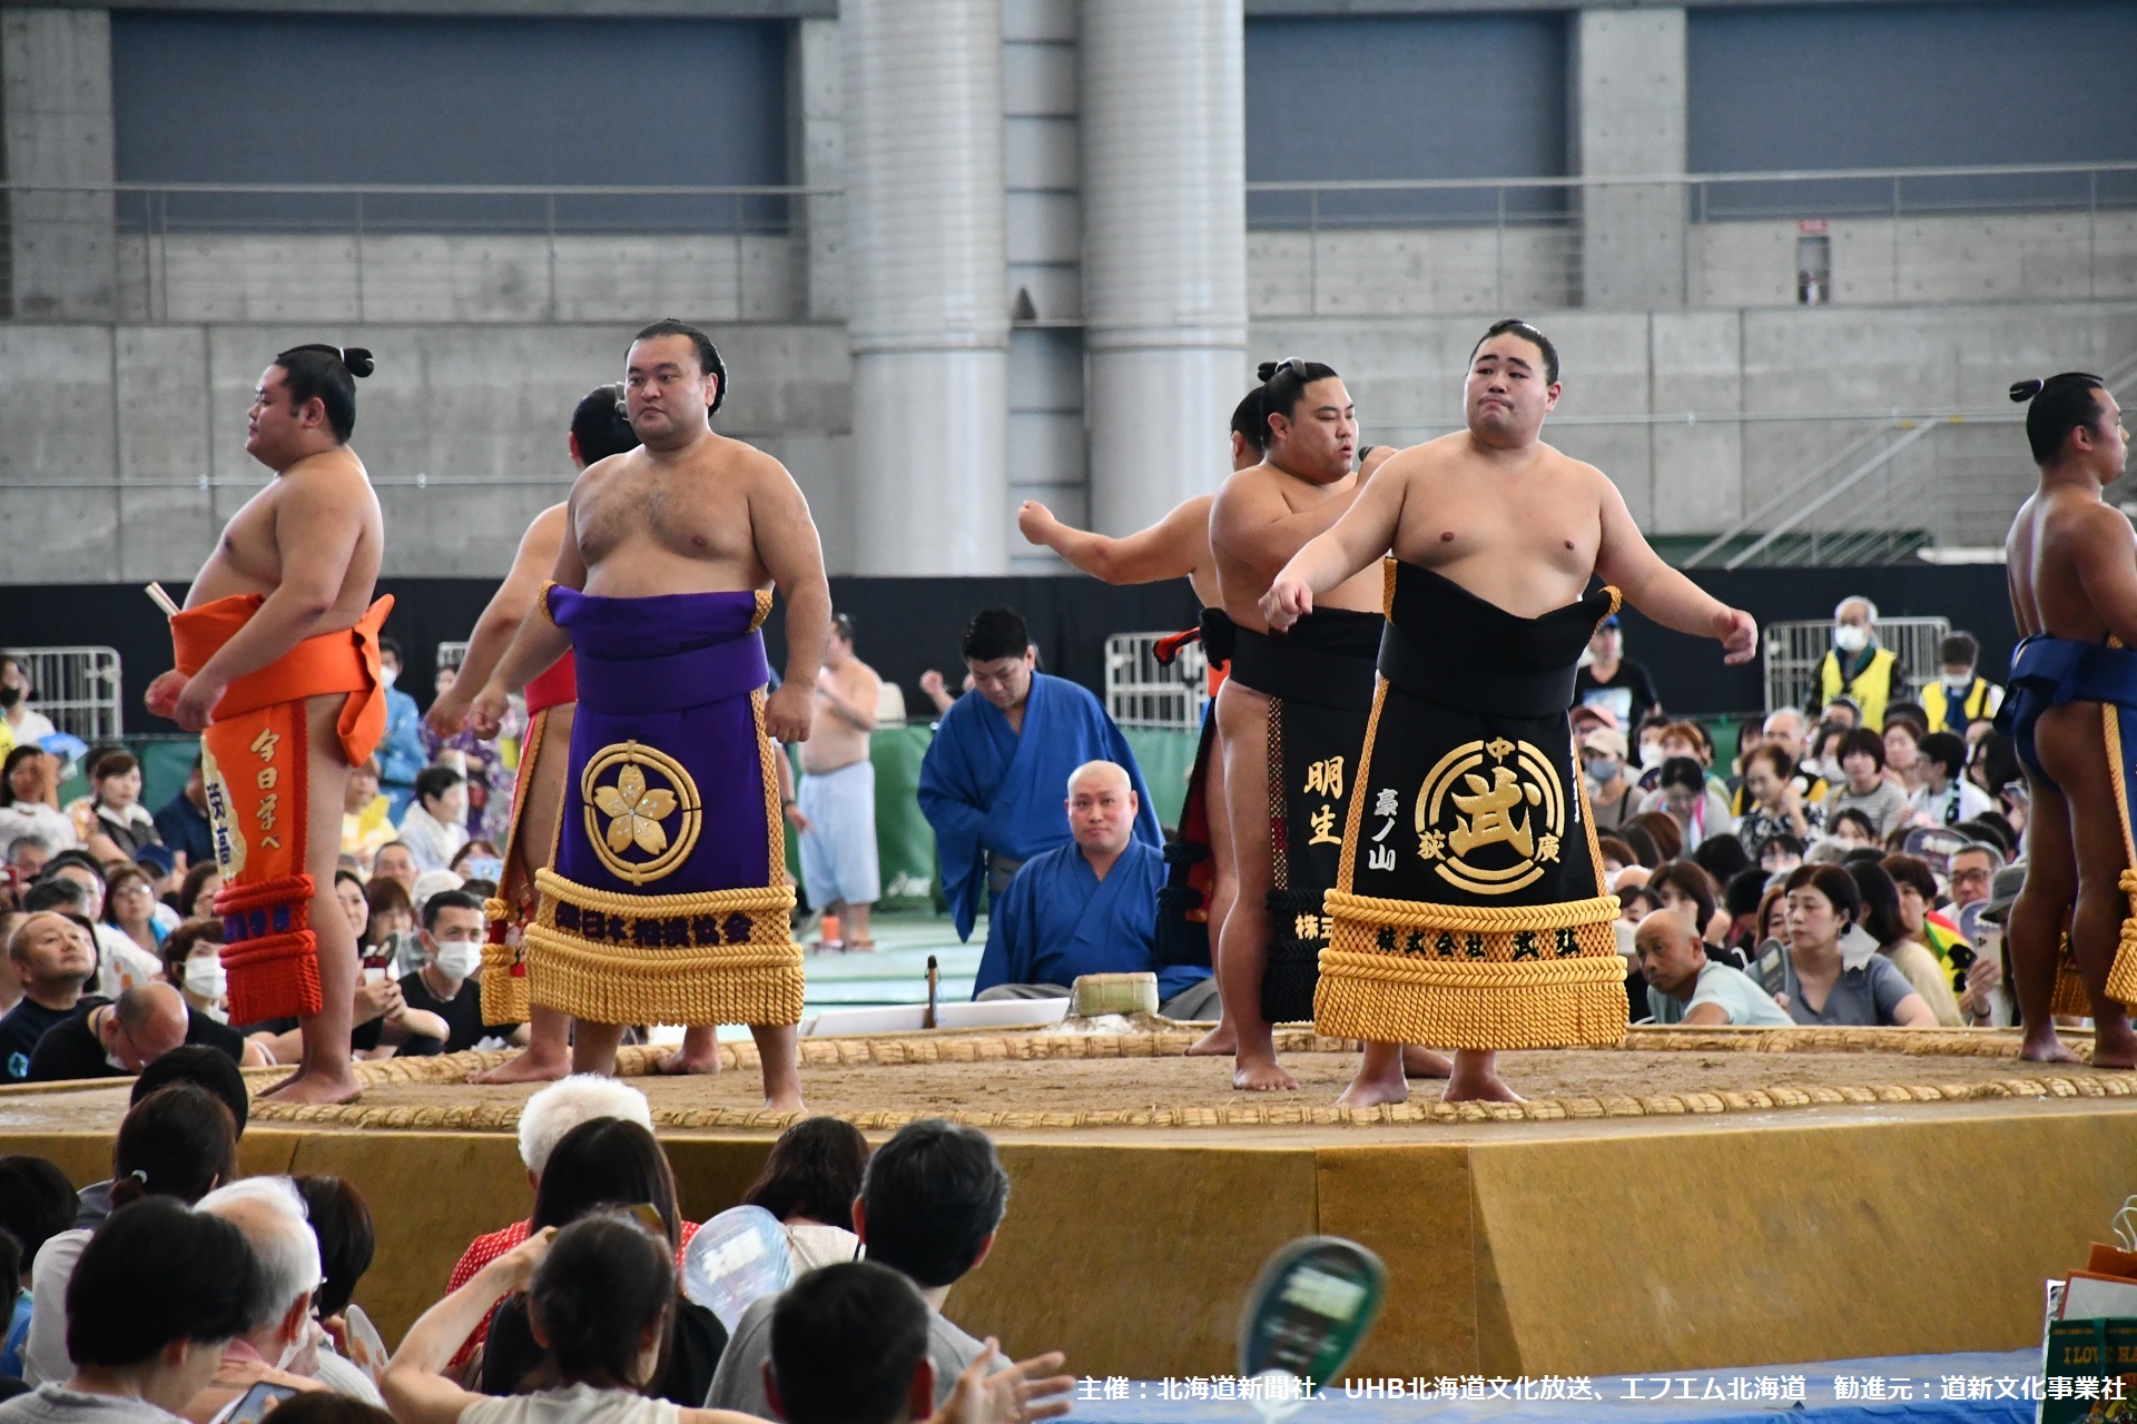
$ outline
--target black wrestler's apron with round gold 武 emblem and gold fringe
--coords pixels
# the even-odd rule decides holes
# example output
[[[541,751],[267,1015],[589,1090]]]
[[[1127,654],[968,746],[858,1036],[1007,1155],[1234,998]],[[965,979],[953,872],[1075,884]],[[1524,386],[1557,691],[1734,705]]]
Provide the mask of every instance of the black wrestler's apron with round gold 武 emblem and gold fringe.
[[[1445,1048],[1624,1038],[1624,961],[1573,762],[1573,670],[1616,589],[1524,619],[1387,559],[1387,638],[1314,1027]]]

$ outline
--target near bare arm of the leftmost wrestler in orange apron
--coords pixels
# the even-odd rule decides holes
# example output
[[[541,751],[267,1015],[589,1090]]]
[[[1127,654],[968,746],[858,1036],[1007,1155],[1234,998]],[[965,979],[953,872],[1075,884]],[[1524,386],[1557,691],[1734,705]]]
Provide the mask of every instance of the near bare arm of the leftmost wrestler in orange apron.
[[[342,596],[348,561],[363,538],[370,491],[361,476],[327,465],[291,470],[282,478],[286,485],[274,517],[282,581],[177,694],[171,719],[188,732],[207,730],[216,702],[233,681],[259,673],[318,632]]]

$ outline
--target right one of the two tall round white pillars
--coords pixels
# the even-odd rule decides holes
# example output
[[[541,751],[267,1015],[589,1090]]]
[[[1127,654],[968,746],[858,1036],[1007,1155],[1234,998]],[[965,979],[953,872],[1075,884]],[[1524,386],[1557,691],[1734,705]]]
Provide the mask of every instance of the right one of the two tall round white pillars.
[[[1229,474],[1248,389],[1239,0],[1083,2],[1090,515],[1160,519]]]

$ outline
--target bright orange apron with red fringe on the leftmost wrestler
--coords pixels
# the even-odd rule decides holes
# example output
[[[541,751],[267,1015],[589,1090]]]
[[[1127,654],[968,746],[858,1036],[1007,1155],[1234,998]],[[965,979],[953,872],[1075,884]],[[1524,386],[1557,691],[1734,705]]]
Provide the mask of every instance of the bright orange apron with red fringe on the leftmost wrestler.
[[[173,615],[177,670],[199,673],[263,602],[259,594],[239,594]],[[222,967],[231,976],[231,1023],[308,1018],[321,1010],[312,931],[318,886],[306,871],[312,769],[306,698],[348,694],[336,730],[348,764],[363,764],[387,730],[378,628],[391,611],[393,598],[380,598],[355,628],[306,638],[239,677],[201,734],[201,779],[222,871],[216,914]]]

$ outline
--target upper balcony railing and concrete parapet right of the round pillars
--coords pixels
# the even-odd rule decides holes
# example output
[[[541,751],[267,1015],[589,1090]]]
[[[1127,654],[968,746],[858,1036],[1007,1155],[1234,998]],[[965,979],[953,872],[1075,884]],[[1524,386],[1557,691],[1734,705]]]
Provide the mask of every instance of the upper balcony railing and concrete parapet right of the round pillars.
[[[1276,278],[1257,286],[1291,295],[1257,316],[1573,307],[1592,286],[1693,307],[2137,297],[2137,162],[1261,181],[1246,201]],[[1637,239],[1590,248],[1620,224]]]

